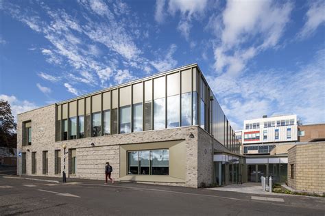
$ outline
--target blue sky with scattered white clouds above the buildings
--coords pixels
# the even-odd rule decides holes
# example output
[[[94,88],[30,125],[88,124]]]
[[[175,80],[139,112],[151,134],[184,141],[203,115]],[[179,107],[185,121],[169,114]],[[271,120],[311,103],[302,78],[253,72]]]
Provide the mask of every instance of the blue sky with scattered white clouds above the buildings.
[[[14,116],[197,63],[234,129],[325,122],[325,1],[0,0],[0,98]]]

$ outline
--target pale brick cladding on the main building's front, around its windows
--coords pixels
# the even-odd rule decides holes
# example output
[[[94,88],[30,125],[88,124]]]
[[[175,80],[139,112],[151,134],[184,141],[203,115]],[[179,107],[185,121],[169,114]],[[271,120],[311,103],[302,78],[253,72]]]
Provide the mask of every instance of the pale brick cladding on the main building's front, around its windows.
[[[32,121],[32,145],[22,146],[22,125]],[[32,175],[32,152],[36,152],[36,176],[43,175],[43,151],[48,151],[47,176],[61,176],[55,173],[55,150],[61,150],[61,172],[63,171],[62,144],[67,144],[66,152],[76,149],[77,171],[73,178],[88,178],[104,180],[104,167],[109,161],[113,167],[112,178],[119,180],[119,145],[143,144],[155,141],[184,140],[186,143],[186,179],[178,184],[186,187],[200,187],[212,183],[213,147],[212,138],[198,126],[187,126],[160,131],[144,131],[102,137],[89,137],[67,141],[55,141],[55,105],[35,109],[18,116],[17,127],[18,150],[26,152],[26,174]],[[194,138],[190,138],[190,134]],[[198,142],[197,140],[200,139]],[[95,146],[92,147],[91,143]],[[66,173],[69,167],[69,154],[66,157]],[[17,169],[19,170],[19,169]],[[160,183],[157,183],[160,184]],[[177,185],[161,183],[162,185]]]

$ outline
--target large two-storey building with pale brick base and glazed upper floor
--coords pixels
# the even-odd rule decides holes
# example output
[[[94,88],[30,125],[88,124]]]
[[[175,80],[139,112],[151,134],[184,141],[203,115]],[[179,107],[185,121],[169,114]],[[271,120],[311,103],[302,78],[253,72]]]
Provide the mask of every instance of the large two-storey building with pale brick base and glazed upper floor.
[[[73,178],[104,180],[109,161],[120,181],[245,180],[240,145],[197,64],[21,113],[17,133],[26,175],[62,176],[66,151]]]

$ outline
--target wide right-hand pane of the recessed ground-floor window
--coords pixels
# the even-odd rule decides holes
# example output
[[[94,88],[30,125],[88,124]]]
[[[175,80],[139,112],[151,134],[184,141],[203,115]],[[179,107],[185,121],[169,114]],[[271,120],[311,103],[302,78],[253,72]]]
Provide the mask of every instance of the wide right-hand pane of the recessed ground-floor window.
[[[169,174],[169,150],[152,150],[152,175]]]

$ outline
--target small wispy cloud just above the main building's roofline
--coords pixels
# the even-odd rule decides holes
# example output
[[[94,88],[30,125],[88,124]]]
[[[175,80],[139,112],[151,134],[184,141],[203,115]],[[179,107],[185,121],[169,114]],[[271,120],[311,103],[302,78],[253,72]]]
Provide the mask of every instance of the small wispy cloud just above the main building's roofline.
[[[171,44],[164,58],[158,58],[156,61],[150,62],[150,64],[152,64],[152,66],[154,66],[158,71],[174,68],[178,63],[176,59],[173,59],[173,53],[176,52],[176,49],[176,44]]]

